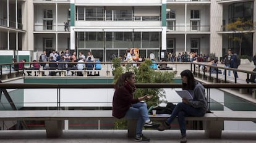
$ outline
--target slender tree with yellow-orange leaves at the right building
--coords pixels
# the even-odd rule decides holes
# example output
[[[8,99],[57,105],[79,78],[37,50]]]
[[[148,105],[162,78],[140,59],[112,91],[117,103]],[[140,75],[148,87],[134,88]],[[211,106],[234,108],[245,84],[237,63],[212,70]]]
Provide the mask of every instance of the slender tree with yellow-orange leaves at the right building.
[[[233,31],[236,35],[229,37],[232,38],[233,41],[237,41],[239,43],[239,55],[241,55],[242,51],[242,40],[243,36],[250,31],[254,30],[255,24],[252,20],[244,20],[244,18],[237,18],[236,21],[225,25],[225,28],[228,31]]]

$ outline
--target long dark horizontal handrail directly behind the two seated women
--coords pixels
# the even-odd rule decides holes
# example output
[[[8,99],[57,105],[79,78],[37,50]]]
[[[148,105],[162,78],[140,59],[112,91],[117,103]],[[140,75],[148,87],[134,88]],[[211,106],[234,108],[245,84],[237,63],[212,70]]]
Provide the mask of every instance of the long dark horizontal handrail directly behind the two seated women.
[[[137,88],[182,88],[182,84],[178,83],[136,83]],[[234,83],[218,83],[203,84],[205,88],[256,88],[255,84],[234,84]],[[114,88],[113,83],[105,84],[42,84],[42,83],[0,83],[0,89],[53,89],[53,88]]]

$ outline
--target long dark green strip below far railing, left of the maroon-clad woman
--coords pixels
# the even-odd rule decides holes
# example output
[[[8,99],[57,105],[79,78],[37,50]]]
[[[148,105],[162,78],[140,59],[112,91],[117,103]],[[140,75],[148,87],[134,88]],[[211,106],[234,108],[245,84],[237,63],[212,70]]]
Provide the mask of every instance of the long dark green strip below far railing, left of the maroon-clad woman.
[[[24,83],[113,83],[113,78],[24,78]]]

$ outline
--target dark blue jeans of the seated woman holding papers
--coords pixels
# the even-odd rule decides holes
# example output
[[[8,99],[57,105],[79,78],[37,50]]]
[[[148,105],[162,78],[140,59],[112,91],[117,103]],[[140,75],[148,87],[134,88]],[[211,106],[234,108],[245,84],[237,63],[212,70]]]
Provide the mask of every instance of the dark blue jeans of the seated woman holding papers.
[[[185,116],[203,115],[205,115],[205,113],[203,112],[202,108],[194,108],[189,104],[181,102],[174,108],[173,113],[171,113],[171,116],[166,120],[166,123],[170,125],[177,116],[179,121],[179,128],[181,129],[181,136],[186,136]]]

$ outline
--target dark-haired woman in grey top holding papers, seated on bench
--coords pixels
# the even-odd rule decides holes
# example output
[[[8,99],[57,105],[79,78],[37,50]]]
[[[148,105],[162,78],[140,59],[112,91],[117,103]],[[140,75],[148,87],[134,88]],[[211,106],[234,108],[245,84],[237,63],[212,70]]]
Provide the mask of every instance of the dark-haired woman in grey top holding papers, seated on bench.
[[[190,70],[181,72],[182,89],[189,91],[193,99],[182,99],[182,102],[177,104],[171,116],[164,121],[158,128],[159,131],[170,129],[170,124],[173,123],[176,116],[181,129],[181,142],[187,142],[186,137],[186,116],[204,116],[207,112],[207,99],[205,97],[205,88],[201,83],[195,80],[193,73]]]

